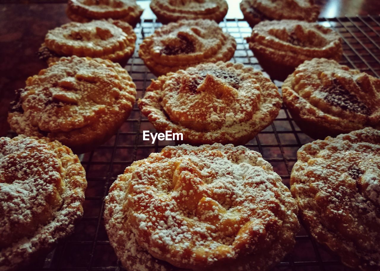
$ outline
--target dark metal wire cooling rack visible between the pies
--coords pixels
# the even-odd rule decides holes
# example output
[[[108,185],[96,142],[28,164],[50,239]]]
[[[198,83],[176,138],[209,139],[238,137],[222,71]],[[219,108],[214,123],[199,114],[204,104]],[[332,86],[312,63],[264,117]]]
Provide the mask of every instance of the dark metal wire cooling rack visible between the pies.
[[[341,64],[360,69],[379,77],[380,74],[380,17],[320,18],[319,22],[331,27],[344,41]],[[137,48],[125,68],[137,86],[137,98],[144,95],[150,79],[155,78],[138,57],[138,44],[145,36],[153,33],[161,24],[155,20],[143,20],[136,28]],[[251,28],[247,22],[225,19],[220,23],[224,31],[230,33],[237,42],[237,49],[231,61],[261,67],[248,49],[244,37]],[[275,81],[281,91],[282,82]],[[107,143],[93,152],[80,156],[87,172],[88,188],[84,202],[84,217],[76,224],[71,237],[62,241],[46,258],[37,261],[33,270],[124,270],[109,244],[103,222],[104,197],[109,186],[133,161],[146,158],[151,152],[158,152],[174,141],[142,141],[142,131],[154,132],[154,127],[142,116],[135,105],[131,116]],[[291,120],[285,107],[266,129],[251,140],[246,147],[260,152],[274,170],[289,186],[290,172],[296,162],[296,151],[303,144],[312,141],[302,133]],[[313,241],[303,228],[296,237],[296,246],[274,270],[277,271],[327,271],[349,270],[339,262],[339,258],[328,249]]]

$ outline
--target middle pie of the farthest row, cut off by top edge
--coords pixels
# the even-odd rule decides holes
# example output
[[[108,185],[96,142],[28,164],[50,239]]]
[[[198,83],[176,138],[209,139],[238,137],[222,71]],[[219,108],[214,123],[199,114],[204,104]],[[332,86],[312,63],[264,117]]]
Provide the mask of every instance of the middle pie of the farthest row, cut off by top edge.
[[[228,5],[225,0],[152,0],[150,9],[161,23],[180,19],[210,19],[220,22],[227,14]]]

